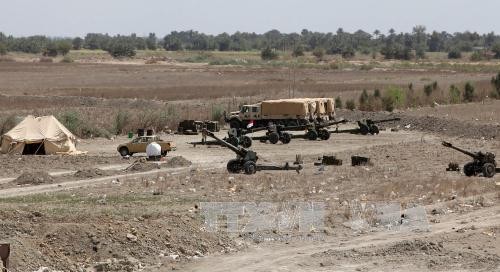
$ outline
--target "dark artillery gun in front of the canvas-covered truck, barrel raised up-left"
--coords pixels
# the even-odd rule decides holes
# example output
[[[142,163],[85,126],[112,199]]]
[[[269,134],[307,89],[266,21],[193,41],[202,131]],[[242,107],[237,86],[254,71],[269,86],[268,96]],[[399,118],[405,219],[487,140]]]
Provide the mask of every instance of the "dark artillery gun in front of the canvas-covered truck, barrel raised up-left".
[[[297,173],[302,170],[302,165],[290,165],[286,163],[284,166],[275,166],[275,165],[261,165],[257,164],[259,157],[257,153],[252,150],[245,149],[243,147],[236,147],[227,141],[224,141],[217,136],[215,136],[212,132],[204,131],[207,136],[215,139],[222,146],[229,148],[231,151],[236,153],[236,159],[232,159],[227,163],[227,171],[229,173],[241,173],[245,172],[247,175],[255,174],[257,171],[263,170],[295,170]]]

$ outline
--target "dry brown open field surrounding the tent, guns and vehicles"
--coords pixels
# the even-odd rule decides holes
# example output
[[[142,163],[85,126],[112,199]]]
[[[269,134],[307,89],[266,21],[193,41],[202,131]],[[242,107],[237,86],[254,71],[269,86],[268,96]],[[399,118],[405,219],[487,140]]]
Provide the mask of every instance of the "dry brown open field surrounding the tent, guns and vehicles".
[[[309,65],[306,56],[303,63],[309,66],[293,68],[289,62],[261,63],[255,52],[201,57],[140,52],[130,61],[71,54],[74,63],[33,62],[33,56],[0,62],[0,120],[76,112],[79,124],[111,132],[118,112],[130,113],[123,129],[128,131],[151,117],[144,112],[164,111],[168,120],[161,137],[173,140],[177,150],[160,164],[141,162],[140,155],[122,159],[116,146],[127,139],[107,135],[81,139],[78,148],[88,151],[81,156],[0,155],[0,243],[11,244],[11,271],[500,269],[500,175],[468,178],[445,171],[448,163],[463,166],[470,158],[441,145],[446,140],[500,154],[499,100],[430,103],[393,113],[342,109],[337,116],[349,120],[398,116],[401,121],[385,123],[379,135],[333,134],[328,141],[252,146],[261,163],[293,162],[300,154],[300,173],[228,174],[226,163],[234,158],[228,149],[193,147],[188,142],[201,135],[169,131],[178,120],[210,119],[216,108],[236,110],[241,103],[268,98],[357,101],[363,89],[412,83],[422,92],[434,81],[443,93],[467,81],[477,93],[488,93],[497,63],[454,64],[440,56],[428,63],[395,63],[361,56],[332,68],[340,61]],[[152,58],[158,60],[145,64]],[[234,59],[246,63],[215,65]],[[328,154],[343,165],[314,165]],[[373,164],[353,167],[353,155]],[[324,225],[306,232],[231,233],[221,223],[220,231],[210,232],[203,202],[318,202],[324,204]],[[360,203],[396,204],[400,223],[384,225],[369,209],[358,213]],[[425,211],[424,218],[414,220],[415,208]],[[361,228],[357,216],[366,221]],[[404,220],[409,225],[402,225]]]

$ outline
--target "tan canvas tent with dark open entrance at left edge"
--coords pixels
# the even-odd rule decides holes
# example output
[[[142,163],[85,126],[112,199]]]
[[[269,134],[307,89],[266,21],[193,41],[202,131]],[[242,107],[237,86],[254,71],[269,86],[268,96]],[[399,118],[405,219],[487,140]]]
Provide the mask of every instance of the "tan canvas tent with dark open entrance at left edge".
[[[51,155],[78,154],[76,137],[54,116],[27,116],[2,136],[2,153]]]

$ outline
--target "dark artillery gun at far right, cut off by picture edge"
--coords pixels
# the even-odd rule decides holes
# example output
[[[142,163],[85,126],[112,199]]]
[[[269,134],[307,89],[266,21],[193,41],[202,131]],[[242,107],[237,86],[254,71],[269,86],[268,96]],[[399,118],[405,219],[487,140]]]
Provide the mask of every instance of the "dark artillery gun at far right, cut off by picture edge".
[[[468,177],[477,176],[482,173],[484,177],[491,178],[495,173],[500,172],[500,169],[496,168],[497,163],[495,161],[495,154],[491,152],[469,152],[448,142],[443,142],[442,144],[445,147],[455,149],[474,159],[472,162],[468,162],[464,165],[464,174]]]

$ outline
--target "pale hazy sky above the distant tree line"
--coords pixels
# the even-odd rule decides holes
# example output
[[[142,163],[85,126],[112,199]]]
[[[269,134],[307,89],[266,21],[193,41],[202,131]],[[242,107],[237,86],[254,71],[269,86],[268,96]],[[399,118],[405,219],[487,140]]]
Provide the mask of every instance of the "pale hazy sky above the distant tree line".
[[[0,31],[16,36],[83,36],[88,32],[163,36],[194,29],[217,34],[411,31],[495,31],[498,0],[0,0]]]

